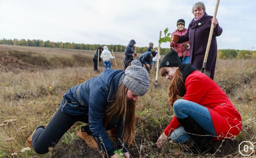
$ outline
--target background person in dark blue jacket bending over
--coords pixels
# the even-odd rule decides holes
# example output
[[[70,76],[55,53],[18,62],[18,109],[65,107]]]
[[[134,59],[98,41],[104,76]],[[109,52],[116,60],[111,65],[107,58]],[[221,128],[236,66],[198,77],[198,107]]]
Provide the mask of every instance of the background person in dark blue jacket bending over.
[[[141,61],[142,67],[145,64],[146,70],[149,72],[152,66],[152,58],[156,56],[155,51],[146,51],[139,56],[139,60]]]

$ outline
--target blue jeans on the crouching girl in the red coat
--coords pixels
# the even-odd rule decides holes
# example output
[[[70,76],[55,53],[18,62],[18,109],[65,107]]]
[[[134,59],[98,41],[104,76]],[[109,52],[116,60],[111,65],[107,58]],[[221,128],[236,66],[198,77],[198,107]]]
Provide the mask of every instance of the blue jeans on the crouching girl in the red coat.
[[[205,130],[205,135],[215,135],[216,131],[212,123],[212,117],[210,115],[209,110],[195,102],[191,102],[184,99],[178,99],[173,104],[174,114],[177,118],[183,119],[187,117],[192,117],[198,125],[200,125]],[[176,128],[170,136],[171,140],[176,143],[187,143],[189,138],[189,134],[185,132],[182,126]],[[209,136],[212,138],[212,136]]]

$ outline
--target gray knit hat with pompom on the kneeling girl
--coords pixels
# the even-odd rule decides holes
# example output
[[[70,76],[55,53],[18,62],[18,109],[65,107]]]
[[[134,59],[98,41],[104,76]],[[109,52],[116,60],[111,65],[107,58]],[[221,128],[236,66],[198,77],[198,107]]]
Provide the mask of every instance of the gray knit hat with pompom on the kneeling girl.
[[[141,66],[141,61],[133,60],[131,66],[128,66],[125,69],[123,84],[138,96],[143,96],[148,92],[148,71]]]

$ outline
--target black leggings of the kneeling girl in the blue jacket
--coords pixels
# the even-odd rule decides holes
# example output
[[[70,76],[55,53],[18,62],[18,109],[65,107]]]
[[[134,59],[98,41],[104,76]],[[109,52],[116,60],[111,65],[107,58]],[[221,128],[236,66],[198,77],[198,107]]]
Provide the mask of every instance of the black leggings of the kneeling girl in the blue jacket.
[[[59,109],[45,129],[36,129],[32,137],[33,149],[38,154],[48,153],[49,147],[54,147],[64,133],[66,133],[67,130],[69,130],[69,128],[77,121],[88,123],[89,115],[71,116],[61,112]],[[113,129],[117,125],[118,121],[119,119],[112,119],[110,125],[106,127],[106,130]],[[89,125],[84,129],[89,129]],[[90,134],[89,131],[86,132]]]

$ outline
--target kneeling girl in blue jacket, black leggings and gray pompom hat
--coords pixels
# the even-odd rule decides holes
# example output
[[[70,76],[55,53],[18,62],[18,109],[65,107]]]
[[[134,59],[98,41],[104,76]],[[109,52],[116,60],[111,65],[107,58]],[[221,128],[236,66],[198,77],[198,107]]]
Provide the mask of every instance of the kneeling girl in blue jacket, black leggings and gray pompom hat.
[[[81,127],[78,137],[88,146],[100,147],[111,158],[118,158],[106,130],[116,127],[117,137],[124,140],[128,149],[135,135],[135,101],[138,96],[146,94],[148,87],[148,72],[138,60],[132,61],[125,71],[103,71],[69,89],[47,127],[38,126],[26,141],[26,146],[32,144],[37,153],[48,153],[49,147],[54,147],[75,122],[81,121],[88,125]],[[117,148],[123,148],[120,141]],[[123,153],[126,158],[130,157],[126,149]]]

